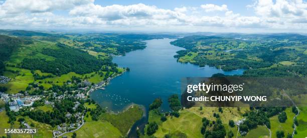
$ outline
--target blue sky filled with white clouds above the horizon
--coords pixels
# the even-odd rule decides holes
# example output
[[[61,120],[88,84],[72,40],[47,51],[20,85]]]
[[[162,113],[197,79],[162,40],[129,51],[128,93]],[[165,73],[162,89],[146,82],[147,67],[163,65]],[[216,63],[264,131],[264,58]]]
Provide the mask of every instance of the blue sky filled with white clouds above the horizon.
[[[0,0],[0,29],[307,32],[305,0]]]

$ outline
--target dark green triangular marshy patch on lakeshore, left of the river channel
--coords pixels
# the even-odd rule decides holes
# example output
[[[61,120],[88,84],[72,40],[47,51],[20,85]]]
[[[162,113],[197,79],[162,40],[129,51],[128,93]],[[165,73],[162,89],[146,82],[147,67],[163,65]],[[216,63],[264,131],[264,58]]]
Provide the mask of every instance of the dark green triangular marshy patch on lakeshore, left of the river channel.
[[[131,106],[127,110],[118,114],[103,113],[101,119],[109,121],[119,129],[122,135],[125,135],[135,121],[142,117],[143,110],[138,106]]]

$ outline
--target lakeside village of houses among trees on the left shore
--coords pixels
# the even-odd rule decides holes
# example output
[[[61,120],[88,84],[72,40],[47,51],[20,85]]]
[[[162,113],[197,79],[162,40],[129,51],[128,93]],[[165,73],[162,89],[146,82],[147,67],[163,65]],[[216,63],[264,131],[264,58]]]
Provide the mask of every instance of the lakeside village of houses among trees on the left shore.
[[[108,77],[104,81],[100,81],[96,84],[91,84],[88,80],[83,80],[80,82],[80,78],[72,78],[72,81],[66,82],[67,84],[76,84],[77,88],[65,88],[63,91],[63,87],[53,86],[48,90],[43,90],[42,94],[32,95],[31,90],[39,89],[38,84],[29,85],[31,89],[26,90],[24,92],[8,94],[0,91],[0,100],[3,100],[6,103],[6,108],[0,108],[0,112],[7,110],[14,112],[26,112],[26,111],[36,111],[36,107],[42,105],[50,105],[52,108],[56,108],[56,103],[61,103],[63,100],[68,99],[69,101],[73,101],[72,111],[67,111],[65,113],[66,120],[62,123],[58,123],[53,130],[53,136],[58,137],[68,132],[73,132],[79,129],[84,124],[84,116],[87,108],[84,108],[84,102],[91,100],[89,98],[90,92],[94,91],[97,88],[104,89],[108,81],[110,81],[114,76],[113,73],[110,77]],[[119,74],[118,74],[119,75]],[[0,76],[2,83],[7,83],[10,81],[10,78]],[[82,104],[82,105],[81,105]],[[81,108],[81,110],[80,110]],[[31,117],[31,116],[30,116]],[[73,121],[71,121],[73,120]],[[22,121],[21,125],[25,128],[31,128],[29,123]]]

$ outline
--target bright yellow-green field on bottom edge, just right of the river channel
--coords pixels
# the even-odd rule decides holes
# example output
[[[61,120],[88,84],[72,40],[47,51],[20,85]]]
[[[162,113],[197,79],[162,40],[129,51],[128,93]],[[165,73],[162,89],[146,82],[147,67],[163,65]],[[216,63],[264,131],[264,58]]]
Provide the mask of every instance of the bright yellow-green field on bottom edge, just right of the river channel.
[[[187,137],[203,137],[200,131],[202,118],[193,112],[182,112],[177,117],[167,117],[168,119],[159,125],[157,137],[164,137],[165,134],[186,135]]]

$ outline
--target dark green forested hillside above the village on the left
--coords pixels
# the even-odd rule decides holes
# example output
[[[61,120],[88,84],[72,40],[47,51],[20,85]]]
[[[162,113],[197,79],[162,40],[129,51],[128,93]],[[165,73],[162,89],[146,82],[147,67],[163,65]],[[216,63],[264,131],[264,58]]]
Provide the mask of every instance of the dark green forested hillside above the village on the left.
[[[90,73],[101,69],[102,65],[113,66],[109,58],[101,60],[89,55],[86,51],[60,45],[58,49],[44,48],[43,54],[55,57],[53,61],[39,58],[25,58],[22,67],[30,70],[39,69],[56,75],[76,72]]]

